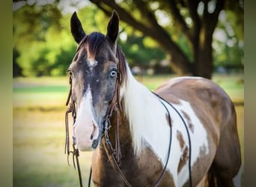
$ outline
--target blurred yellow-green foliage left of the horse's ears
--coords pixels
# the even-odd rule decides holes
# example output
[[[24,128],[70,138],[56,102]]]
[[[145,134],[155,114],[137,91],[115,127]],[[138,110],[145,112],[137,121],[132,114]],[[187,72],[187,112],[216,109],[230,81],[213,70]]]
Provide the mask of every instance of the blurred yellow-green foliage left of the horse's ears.
[[[13,49],[23,76],[61,76],[72,61],[76,43],[54,4],[25,5],[13,12]],[[67,20],[67,19],[65,19]]]

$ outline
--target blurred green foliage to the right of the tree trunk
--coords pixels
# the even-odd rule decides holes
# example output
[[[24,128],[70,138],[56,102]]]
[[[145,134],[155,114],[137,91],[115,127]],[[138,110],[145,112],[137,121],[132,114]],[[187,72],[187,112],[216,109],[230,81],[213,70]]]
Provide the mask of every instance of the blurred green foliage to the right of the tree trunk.
[[[243,22],[234,11],[220,14],[216,32],[222,37],[213,40],[215,67],[243,69]]]

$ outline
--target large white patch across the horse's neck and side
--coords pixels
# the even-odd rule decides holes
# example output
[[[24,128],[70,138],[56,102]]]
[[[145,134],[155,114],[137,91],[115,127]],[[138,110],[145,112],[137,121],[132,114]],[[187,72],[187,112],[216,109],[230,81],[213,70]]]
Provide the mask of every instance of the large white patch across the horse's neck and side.
[[[189,139],[180,116],[170,105],[163,101],[173,121],[172,129],[170,129],[166,118],[167,111],[159,101],[159,98],[151,93],[144,85],[138,83],[129,71],[127,73],[127,84],[125,88],[121,88],[121,92],[124,93],[125,112],[132,132],[135,154],[139,156],[144,146],[148,144],[159,161],[162,162],[162,165],[165,165],[168,159],[168,145],[171,130],[171,154],[168,160],[167,170],[171,173],[175,186],[183,186],[186,180],[189,179],[189,162],[186,162],[183,170],[180,174],[177,174],[180,157],[183,155],[183,152],[180,150],[180,143],[177,141],[177,131],[181,132],[183,140],[188,147]],[[186,111],[186,114],[189,115],[192,123],[195,125],[195,132],[193,134],[190,133],[192,141],[191,163],[193,165],[200,155],[200,147],[206,147],[206,153],[209,151],[207,132],[201,121],[195,115],[195,111],[193,111],[189,102],[180,100],[180,104],[174,106],[180,114],[182,114],[181,110]],[[185,117],[183,119],[186,121]]]

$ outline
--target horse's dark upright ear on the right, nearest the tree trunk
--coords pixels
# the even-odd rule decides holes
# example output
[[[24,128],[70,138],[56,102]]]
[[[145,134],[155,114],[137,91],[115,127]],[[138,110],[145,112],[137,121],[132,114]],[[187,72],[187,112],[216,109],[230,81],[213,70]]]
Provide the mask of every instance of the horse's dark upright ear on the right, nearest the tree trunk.
[[[114,10],[111,18],[109,19],[108,30],[106,36],[109,37],[109,40],[112,43],[115,43],[118,38],[119,31],[119,16],[118,13]]]

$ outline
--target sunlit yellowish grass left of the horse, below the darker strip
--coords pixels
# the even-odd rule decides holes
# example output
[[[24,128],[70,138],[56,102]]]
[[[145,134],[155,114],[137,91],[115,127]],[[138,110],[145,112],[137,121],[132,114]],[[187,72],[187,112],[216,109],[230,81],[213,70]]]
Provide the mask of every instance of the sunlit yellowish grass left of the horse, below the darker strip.
[[[77,171],[67,165],[64,141],[64,111],[14,108],[13,186],[79,186]],[[79,159],[87,183],[91,152]]]

